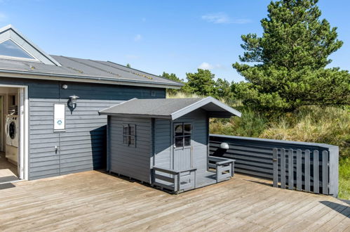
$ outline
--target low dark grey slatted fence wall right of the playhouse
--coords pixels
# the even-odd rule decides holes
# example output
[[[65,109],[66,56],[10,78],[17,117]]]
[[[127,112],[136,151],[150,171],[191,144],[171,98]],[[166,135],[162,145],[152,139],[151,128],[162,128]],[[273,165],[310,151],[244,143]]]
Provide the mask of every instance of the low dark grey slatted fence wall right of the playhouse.
[[[220,143],[228,143],[229,150],[222,150]],[[278,153],[279,165],[274,164],[273,158],[276,157],[274,157],[273,148],[285,149],[285,155],[288,155],[288,157],[285,157],[284,162],[287,165],[294,164],[295,166],[288,165],[281,172],[281,154]],[[299,151],[297,152],[297,150]],[[305,150],[311,150],[311,155],[307,155],[308,153],[305,153]],[[288,184],[290,189],[294,187],[302,189],[310,184],[307,189],[313,188],[314,193],[320,193],[320,189],[322,190],[323,188],[322,193],[324,194],[333,196],[338,194],[339,148],[337,146],[323,143],[278,141],[274,139],[211,134],[210,155],[233,158],[236,160],[236,172],[271,180],[274,179],[274,167],[276,169],[277,165],[278,176],[283,172],[285,173],[285,179],[282,179],[282,182],[285,181],[285,185]],[[304,170],[305,165],[311,166],[311,169],[307,172]],[[291,173],[292,175],[290,175]],[[304,177],[308,173],[312,175],[313,179],[309,180]],[[281,179],[278,180],[281,181]],[[319,186],[319,181],[321,180],[325,180],[325,182],[321,182],[323,186]],[[276,185],[276,181],[274,181],[274,185]]]

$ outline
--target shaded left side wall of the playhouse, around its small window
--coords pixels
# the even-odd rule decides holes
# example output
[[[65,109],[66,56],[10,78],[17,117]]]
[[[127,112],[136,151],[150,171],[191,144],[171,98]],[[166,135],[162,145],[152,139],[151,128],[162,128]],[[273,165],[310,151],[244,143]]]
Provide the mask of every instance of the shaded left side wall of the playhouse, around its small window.
[[[110,171],[150,183],[151,119],[109,116]],[[136,125],[136,146],[123,144],[123,124]]]

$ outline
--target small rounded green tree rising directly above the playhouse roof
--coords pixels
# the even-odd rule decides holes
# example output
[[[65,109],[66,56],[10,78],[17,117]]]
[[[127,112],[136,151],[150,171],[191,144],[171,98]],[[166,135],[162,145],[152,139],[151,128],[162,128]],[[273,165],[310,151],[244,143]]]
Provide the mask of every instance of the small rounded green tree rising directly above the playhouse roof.
[[[198,72],[186,73],[187,82],[184,86],[184,91],[191,94],[210,96],[215,94],[214,75],[210,70],[201,70]]]

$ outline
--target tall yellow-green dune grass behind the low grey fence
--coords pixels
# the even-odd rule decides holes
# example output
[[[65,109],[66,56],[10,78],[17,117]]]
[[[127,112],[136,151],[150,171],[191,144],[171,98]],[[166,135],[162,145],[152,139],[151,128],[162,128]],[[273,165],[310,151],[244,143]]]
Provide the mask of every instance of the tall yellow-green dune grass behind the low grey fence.
[[[198,97],[178,94],[174,98]],[[241,101],[224,101],[242,117],[211,119],[210,133],[339,146],[339,198],[350,200],[350,108],[305,106],[295,112],[264,115],[245,108]]]

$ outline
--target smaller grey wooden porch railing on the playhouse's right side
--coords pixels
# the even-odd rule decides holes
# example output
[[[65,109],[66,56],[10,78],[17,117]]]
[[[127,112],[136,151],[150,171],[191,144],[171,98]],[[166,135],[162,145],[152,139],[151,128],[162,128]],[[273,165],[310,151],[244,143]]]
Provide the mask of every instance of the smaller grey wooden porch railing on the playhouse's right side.
[[[231,176],[234,176],[234,162],[235,160],[225,159],[221,157],[208,157],[208,167],[209,169],[216,170],[217,182],[231,179]]]

